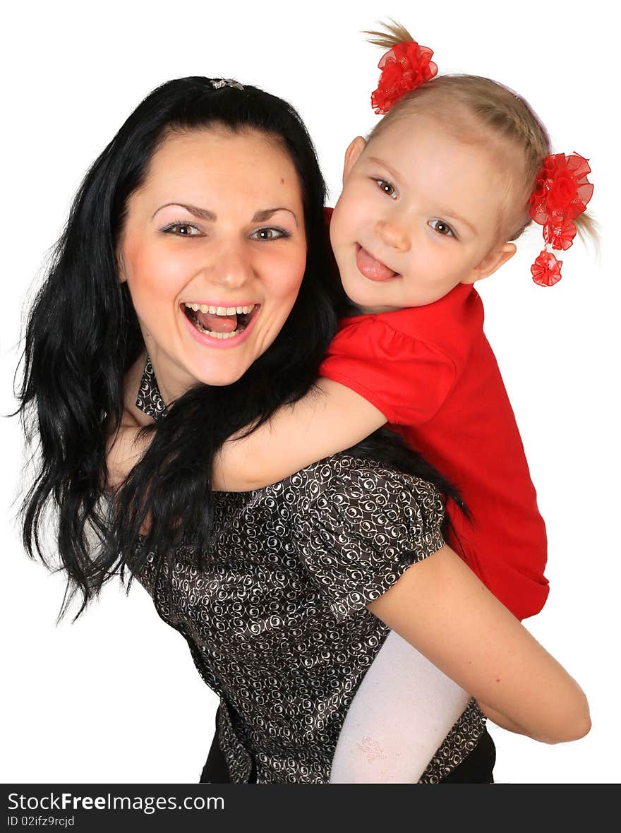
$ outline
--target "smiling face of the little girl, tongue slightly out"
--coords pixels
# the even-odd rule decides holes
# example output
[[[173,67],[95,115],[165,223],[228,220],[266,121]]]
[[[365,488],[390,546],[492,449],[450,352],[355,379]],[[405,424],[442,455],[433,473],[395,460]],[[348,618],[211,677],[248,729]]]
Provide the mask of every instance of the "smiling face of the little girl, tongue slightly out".
[[[345,156],[330,239],[345,292],[364,312],[420,307],[514,254],[498,242],[499,163],[425,117],[395,119]]]

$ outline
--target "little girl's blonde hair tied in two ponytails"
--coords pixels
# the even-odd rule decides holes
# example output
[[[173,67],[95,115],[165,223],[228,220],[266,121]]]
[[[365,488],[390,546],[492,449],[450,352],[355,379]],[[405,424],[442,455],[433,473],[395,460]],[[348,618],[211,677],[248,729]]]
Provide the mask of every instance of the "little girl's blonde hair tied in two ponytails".
[[[383,31],[365,32],[370,43],[391,49],[397,43],[413,41],[405,27],[391,21],[380,24]],[[416,113],[437,118],[445,127],[465,141],[496,140],[496,150],[523,152],[521,170],[510,176],[508,193],[511,207],[499,232],[504,240],[516,240],[532,222],[528,199],[544,158],[550,153],[548,132],[529,106],[516,92],[490,78],[477,75],[440,75],[406,92],[374,127],[369,141],[381,135],[397,119]],[[484,132],[481,127],[487,128]],[[514,156],[512,154],[512,161]],[[514,166],[509,166],[510,167]],[[518,166],[519,167],[519,166]],[[594,241],[595,222],[586,212],[574,219],[581,237]]]

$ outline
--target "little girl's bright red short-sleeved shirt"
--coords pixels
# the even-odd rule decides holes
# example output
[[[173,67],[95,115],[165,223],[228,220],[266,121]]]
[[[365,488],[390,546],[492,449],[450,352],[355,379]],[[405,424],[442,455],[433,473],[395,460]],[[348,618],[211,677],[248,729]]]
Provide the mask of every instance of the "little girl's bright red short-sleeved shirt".
[[[458,487],[473,521],[449,504],[459,543],[448,543],[524,619],[548,596],[545,526],[483,319],[464,284],[425,307],[345,318],[320,373],[375,405]]]

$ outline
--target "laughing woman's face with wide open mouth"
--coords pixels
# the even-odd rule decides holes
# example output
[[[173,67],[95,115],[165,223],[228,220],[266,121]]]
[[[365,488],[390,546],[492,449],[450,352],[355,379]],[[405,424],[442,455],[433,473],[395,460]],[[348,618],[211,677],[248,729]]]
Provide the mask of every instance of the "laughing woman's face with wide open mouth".
[[[128,201],[118,259],[166,402],[196,382],[236,382],[280,332],[304,275],[293,162],[256,131],[171,134]]]

